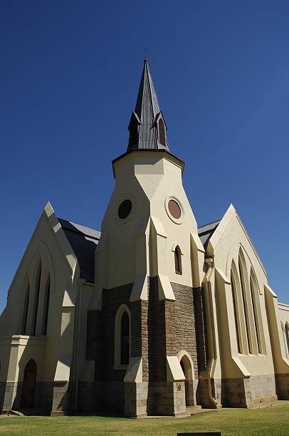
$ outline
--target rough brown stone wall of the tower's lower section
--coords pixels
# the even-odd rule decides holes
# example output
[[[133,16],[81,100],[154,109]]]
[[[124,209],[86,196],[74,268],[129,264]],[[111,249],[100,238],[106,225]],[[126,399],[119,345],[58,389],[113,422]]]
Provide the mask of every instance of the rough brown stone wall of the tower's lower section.
[[[184,412],[185,389],[175,392],[167,382],[166,356],[186,350],[198,378],[195,301],[190,287],[172,288],[176,301],[159,301],[158,277],[148,278],[148,301],[130,302],[132,284],[103,290],[102,310],[88,312],[86,359],[95,360],[95,383],[79,384],[78,410],[103,405],[132,416]],[[114,369],[115,315],[122,303],[131,311],[131,355],[142,356],[142,383],[124,383],[126,370]],[[204,350],[204,326],[201,335]],[[195,404],[196,382],[188,386]]]

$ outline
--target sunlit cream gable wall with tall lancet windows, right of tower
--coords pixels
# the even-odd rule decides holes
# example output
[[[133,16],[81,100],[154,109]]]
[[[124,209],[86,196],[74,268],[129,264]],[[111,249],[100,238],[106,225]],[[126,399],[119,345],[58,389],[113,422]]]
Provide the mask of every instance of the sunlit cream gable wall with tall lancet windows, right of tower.
[[[261,264],[255,247],[249,239],[236,210],[231,205],[213,236],[209,240],[207,256],[211,256],[215,274],[211,280],[211,293],[216,301],[214,328],[219,348],[216,350],[216,374],[224,378],[238,378],[249,375],[273,374],[273,358],[268,331],[268,319],[264,297],[264,284],[267,284],[266,272]],[[241,277],[238,259],[243,266],[244,294],[241,291]],[[238,352],[237,335],[231,289],[231,268],[237,279],[236,306],[239,319],[241,353]],[[256,288],[256,324],[259,328],[257,339],[251,297],[250,275]],[[244,311],[243,299],[246,304]],[[248,337],[246,332],[246,318]],[[248,346],[250,341],[250,348]],[[259,348],[258,350],[258,340]],[[218,363],[220,363],[218,365]],[[221,373],[219,372],[221,370]]]

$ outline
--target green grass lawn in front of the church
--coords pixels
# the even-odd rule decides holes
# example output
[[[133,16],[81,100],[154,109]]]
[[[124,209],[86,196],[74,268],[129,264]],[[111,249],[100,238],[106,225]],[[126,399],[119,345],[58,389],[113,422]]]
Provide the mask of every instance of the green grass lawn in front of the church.
[[[289,405],[226,409],[183,418],[130,420],[120,417],[0,417],[0,435],[177,435],[220,431],[222,435],[289,435]]]

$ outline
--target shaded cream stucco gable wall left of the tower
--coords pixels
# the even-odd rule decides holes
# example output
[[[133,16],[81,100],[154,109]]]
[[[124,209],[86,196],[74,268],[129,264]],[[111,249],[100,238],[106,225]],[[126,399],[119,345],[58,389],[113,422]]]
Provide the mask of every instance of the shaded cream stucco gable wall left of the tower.
[[[33,310],[37,272],[41,261],[36,334]],[[48,276],[51,293],[46,336],[43,335],[44,294]],[[1,376],[21,381],[23,368],[33,358],[38,381],[69,380],[73,355],[74,305],[79,267],[75,254],[48,203],[21,259],[10,286],[6,308],[0,317]],[[26,336],[23,336],[24,299],[30,296]],[[27,336],[28,334],[28,336]]]

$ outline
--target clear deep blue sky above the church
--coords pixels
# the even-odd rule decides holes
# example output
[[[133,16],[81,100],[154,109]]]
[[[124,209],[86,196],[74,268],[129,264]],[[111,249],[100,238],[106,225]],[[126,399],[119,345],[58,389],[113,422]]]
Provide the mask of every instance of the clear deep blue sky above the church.
[[[144,47],[199,225],[232,202],[289,303],[288,1],[1,1],[0,311],[42,209],[100,229]]]

